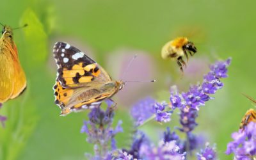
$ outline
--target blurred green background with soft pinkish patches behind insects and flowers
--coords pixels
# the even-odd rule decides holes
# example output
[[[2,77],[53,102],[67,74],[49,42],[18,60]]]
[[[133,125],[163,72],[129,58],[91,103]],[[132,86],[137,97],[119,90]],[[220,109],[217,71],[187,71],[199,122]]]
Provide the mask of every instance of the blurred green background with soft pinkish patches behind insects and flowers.
[[[1,23],[13,28],[29,26],[14,31],[28,88],[0,110],[0,115],[8,116],[6,127],[0,127],[0,158],[86,159],[84,152],[93,151],[86,135],[80,133],[88,111],[62,117],[54,104],[52,46],[65,41],[92,56],[113,79],[119,79],[128,61],[138,54],[125,79],[157,80],[127,84],[113,98],[118,102],[114,124],[119,119],[124,122],[125,132],[117,136],[120,148],[131,143],[132,104],[146,96],[168,101],[170,86],[177,84],[186,92],[189,84],[202,81],[210,63],[231,56],[225,86],[200,109],[195,133],[216,143],[220,159],[232,159],[224,154],[230,134],[252,108],[241,93],[256,98],[255,5],[254,1],[230,0],[2,0]],[[160,56],[161,47],[176,36],[188,36],[198,48],[182,78],[176,63]],[[179,125],[176,113],[168,124],[150,122],[142,129],[156,142],[166,126],[175,125]]]

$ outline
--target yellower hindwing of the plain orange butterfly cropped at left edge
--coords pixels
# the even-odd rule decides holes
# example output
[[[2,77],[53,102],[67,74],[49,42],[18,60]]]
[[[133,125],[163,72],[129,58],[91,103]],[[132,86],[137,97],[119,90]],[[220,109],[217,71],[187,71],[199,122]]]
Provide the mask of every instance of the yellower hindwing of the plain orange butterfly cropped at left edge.
[[[14,68],[10,51],[2,48],[0,51],[0,102],[10,99],[13,93]]]

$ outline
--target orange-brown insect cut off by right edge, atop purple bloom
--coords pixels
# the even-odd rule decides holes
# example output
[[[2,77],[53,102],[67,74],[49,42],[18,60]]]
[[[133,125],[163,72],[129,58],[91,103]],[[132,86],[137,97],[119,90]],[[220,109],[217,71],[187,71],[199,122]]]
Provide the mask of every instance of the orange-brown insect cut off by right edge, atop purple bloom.
[[[252,97],[249,97],[248,95],[244,95],[244,96],[252,100],[252,102],[256,104],[255,99],[253,99]],[[255,109],[252,109],[252,108],[246,111],[245,115],[242,118],[242,122],[239,126],[239,129],[242,129],[242,131],[244,131],[244,127],[246,127],[246,125],[248,125],[250,122],[256,122],[256,111]]]

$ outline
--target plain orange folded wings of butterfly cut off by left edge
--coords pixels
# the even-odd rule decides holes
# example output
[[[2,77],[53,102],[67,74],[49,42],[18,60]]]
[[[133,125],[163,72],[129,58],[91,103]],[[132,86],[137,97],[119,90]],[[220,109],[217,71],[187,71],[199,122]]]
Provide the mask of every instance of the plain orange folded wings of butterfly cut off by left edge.
[[[0,40],[0,102],[14,99],[26,88],[26,76],[19,62],[16,45],[12,38]]]

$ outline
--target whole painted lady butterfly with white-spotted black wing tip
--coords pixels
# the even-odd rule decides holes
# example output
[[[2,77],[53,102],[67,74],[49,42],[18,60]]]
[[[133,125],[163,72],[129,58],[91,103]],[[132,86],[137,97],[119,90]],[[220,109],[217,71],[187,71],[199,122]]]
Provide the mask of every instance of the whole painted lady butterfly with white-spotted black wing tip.
[[[124,87],[123,81],[113,81],[100,65],[76,47],[56,42],[53,54],[58,66],[53,89],[61,115],[97,107]]]

